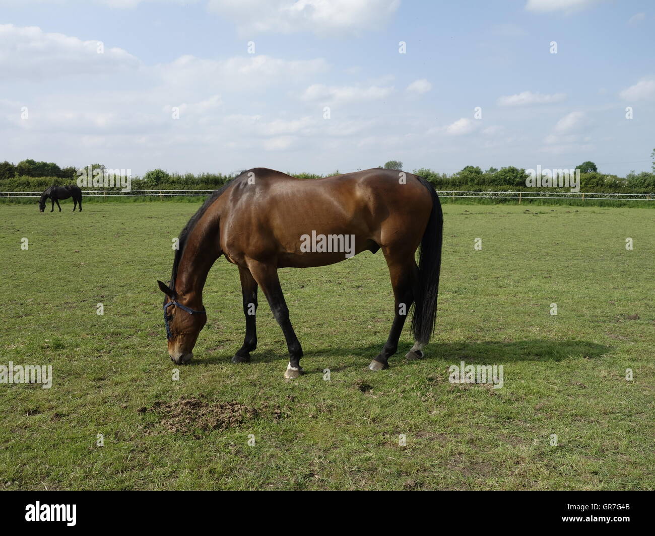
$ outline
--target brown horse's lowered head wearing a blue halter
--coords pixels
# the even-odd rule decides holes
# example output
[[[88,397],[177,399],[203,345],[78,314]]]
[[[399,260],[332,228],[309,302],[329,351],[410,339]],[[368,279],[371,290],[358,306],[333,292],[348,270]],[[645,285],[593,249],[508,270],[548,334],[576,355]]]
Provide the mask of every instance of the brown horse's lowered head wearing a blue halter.
[[[204,310],[195,310],[181,303],[184,296],[178,296],[168,285],[157,281],[159,288],[166,295],[164,298],[164,325],[168,338],[168,355],[176,365],[189,363],[193,358],[193,347],[200,330],[207,323]]]

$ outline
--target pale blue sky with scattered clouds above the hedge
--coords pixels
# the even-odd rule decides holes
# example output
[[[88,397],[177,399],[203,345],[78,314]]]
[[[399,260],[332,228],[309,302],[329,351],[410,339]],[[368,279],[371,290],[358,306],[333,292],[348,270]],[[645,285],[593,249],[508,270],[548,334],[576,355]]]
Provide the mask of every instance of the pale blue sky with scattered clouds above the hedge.
[[[650,171],[652,1],[0,0],[0,161]]]

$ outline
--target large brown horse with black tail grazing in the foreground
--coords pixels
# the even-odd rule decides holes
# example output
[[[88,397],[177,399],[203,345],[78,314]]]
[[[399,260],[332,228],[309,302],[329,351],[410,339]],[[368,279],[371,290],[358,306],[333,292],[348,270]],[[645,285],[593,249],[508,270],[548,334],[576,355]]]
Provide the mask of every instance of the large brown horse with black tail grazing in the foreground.
[[[207,321],[202,288],[215,260],[225,255],[238,266],[246,315],[246,338],[232,362],[250,361],[250,352],[257,348],[255,310],[261,287],[289,349],[284,376],[297,378],[303,374],[303,349],[291,327],[278,268],[326,266],[382,249],[395,316],[388,340],[369,368],[388,367],[412,304],[415,344],[406,357],[420,359],[434,332],[442,228],[434,188],[411,173],[373,169],[303,180],[266,168],[244,171],[214,192],[182,230],[170,287],[157,281],[167,296],[164,323],[170,358],[180,365],[193,357]]]

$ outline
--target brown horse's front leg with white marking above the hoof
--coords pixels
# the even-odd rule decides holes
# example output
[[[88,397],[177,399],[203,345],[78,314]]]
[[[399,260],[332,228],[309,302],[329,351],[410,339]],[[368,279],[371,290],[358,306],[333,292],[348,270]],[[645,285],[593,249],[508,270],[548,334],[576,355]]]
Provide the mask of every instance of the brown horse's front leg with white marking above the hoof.
[[[249,259],[248,268],[250,268],[250,273],[264,292],[269,306],[271,306],[273,316],[282,328],[284,338],[286,339],[287,348],[289,349],[289,365],[287,365],[286,372],[284,372],[284,377],[289,379],[297,378],[305,373],[300,366],[300,358],[303,357],[303,348],[300,346],[300,342],[291,326],[289,309],[284,301],[276,265],[273,262],[265,263]]]

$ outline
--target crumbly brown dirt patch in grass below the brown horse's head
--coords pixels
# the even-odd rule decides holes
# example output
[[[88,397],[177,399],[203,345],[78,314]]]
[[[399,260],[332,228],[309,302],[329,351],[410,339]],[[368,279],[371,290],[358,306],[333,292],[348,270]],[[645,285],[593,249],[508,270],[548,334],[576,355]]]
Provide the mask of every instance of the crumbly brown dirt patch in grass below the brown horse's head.
[[[202,432],[227,430],[260,417],[276,421],[287,416],[280,406],[268,402],[259,406],[246,406],[240,402],[210,402],[196,397],[155,402],[150,408],[140,408],[138,412],[157,414],[161,418],[161,427],[170,433],[191,434],[195,437]]]

